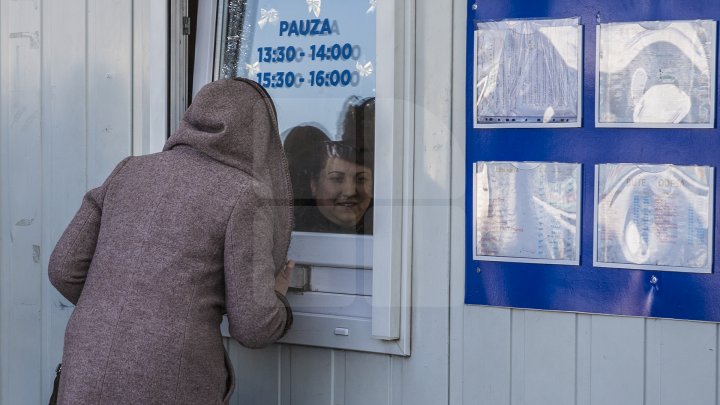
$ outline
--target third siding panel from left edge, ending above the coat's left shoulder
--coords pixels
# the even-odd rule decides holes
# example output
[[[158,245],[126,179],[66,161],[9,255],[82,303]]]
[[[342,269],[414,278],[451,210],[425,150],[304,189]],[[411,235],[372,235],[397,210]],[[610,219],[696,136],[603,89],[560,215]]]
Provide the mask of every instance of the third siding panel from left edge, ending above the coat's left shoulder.
[[[88,0],[88,185],[132,148],[132,2]]]

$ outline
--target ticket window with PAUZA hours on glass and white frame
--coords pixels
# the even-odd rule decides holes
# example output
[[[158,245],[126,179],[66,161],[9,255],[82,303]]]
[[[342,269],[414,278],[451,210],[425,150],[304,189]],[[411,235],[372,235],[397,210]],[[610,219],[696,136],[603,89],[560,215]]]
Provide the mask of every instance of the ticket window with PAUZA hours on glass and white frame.
[[[277,109],[295,198],[286,343],[409,355],[409,7],[198,2],[193,92],[246,77]]]

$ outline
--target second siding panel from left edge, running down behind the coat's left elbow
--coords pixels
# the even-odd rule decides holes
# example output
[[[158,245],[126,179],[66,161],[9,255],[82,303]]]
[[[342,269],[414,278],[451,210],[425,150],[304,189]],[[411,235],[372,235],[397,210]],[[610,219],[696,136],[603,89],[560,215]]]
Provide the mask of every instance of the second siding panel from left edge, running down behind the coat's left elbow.
[[[43,398],[52,390],[72,306],[46,277],[50,253],[86,191],[85,0],[43,1]]]

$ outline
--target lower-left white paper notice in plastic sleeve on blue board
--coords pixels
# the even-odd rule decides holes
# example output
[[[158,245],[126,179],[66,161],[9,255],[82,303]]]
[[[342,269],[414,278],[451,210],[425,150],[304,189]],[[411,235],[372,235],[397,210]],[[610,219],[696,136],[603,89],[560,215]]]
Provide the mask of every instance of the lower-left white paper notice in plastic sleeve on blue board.
[[[474,168],[476,260],[579,264],[579,164]]]

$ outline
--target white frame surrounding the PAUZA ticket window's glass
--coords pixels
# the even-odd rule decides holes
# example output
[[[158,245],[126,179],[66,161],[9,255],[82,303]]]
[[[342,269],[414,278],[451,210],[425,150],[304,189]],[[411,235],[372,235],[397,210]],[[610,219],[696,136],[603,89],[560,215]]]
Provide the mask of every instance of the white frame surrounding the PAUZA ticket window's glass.
[[[215,57],[195,64],[194,92],[219,75],[220,50],[209,40],[222,32],[219,1],[200,0],[196,55],[212,48]],[[288,254],[303,265],[372,269],[372,297],[289,293],[295,326],[282,343],[410,355],[415,1],[376,4],[375,125],[383,135],[375,140],[374,234],[294,232]]]

